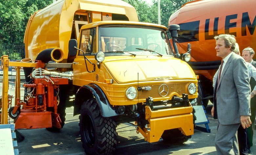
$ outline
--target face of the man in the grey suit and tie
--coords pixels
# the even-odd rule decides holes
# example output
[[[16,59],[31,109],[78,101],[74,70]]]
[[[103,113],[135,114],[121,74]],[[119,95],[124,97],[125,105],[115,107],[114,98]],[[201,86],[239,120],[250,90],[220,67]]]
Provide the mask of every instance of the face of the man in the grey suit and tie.
[[[229,53],[232,52],[230,50],[231,47],[226,48],[224,40],[220,40],[220,39],[216,40],[216,47],[215,47],[215,49],[217,51],[217,56],[221,57],[222,59],[224,59]]]

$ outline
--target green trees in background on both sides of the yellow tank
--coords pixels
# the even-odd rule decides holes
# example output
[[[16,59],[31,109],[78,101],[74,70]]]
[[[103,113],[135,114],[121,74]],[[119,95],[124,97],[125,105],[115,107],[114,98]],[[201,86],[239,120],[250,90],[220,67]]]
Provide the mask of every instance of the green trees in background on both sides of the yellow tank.
[[[143,0],[123,0],[137,10],[140,22],[158,23],[157,0],[153,5]],[[160,0],[161,24],[168,26],[172,13],[191,0]],[[31,14],[53,3],[53,0],[0,0],[0,43],[23,44]]]

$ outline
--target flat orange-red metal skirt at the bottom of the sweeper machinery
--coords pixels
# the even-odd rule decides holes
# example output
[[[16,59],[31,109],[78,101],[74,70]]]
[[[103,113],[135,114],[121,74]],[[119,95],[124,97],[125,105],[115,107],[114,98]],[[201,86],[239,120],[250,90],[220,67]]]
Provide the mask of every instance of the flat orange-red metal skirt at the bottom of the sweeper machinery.
[[[15,129],[52,127],[52,112],[21,112],[15,120]]]

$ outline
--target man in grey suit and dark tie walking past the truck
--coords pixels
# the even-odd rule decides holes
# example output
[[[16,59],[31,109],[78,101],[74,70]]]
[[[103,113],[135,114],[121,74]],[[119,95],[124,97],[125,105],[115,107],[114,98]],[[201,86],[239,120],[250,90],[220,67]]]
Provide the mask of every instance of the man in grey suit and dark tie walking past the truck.
[[[235,49],[235,36],[221,34],[214,37],[217,56],[223,59],[214,75],[214,105],[212,116],[218,118],[215,147],[218,154],[235,154],[234,140],[240,125],[249,127],[250,87],[248,68],[245,60],[232,52]]]

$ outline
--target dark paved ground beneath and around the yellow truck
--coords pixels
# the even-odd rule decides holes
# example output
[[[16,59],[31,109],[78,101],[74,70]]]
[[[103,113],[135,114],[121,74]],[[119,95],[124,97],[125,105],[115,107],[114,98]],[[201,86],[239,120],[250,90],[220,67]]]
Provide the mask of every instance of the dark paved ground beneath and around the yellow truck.
[[[2,84],[0,81],[0,92]],[[9,93],[13,94],[14,89]],[[22,95],[23,93],[21,93]],[[0,95],[1,96],[1,95]],[[166,145],[160,139],[156,143],[148,143],[140,134],[136,133],[132,124],[117,126],[118,146],[116,154],[119,155],[215,155],[214,138],[217,129],[217,121],[210,115],[212,104],[206,107],[209,117],[211,133],[195,130],[192,138],[183,145]],[[73,107],[66,109],[66,122],[59,132],[50,132],[46,129],[19,130],[25,136],[18,143],[20,155],[83,155],[84,150],[80,141],[78,116],[73,117]],[[10,120],[12,123],[12,120]],[[227,131],[228,132],[228,131]],[[0,153],[1,154],[1,153]],[[251,154],[256,154],[256,136]]]

